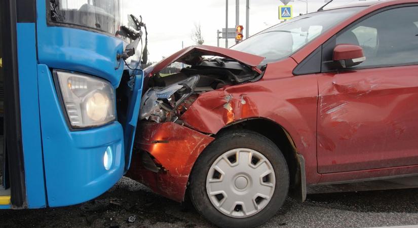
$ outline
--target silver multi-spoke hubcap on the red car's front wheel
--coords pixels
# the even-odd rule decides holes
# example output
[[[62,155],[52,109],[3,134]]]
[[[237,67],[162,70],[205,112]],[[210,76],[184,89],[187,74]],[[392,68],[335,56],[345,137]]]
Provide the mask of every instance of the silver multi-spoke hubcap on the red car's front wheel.
[[[276,185],[273,166],[253,149],[227,151],[212,164],[206,178],[206,192],[213,206],[223,214],[244,218],[269,204]]]

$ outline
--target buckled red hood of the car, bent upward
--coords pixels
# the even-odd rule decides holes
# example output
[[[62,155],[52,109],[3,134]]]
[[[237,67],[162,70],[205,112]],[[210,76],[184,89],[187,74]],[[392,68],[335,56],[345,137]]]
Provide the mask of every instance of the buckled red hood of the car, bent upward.
[[[224,58],[230,58],[238,60],[246,65],[251,67],[258,66],[264,57],[253,55],[245,52],[235,51],[232,49],[218,48],[207,45],[191,46],[184,48],[166,58],[161,60],[158,63],[150,65],[144,69],[144,74],[147,76],[154,75],[160,70],[166,68],[173,62],[181,62],[188,65],[194,65],[201,61],[202,56],[213,55]]]

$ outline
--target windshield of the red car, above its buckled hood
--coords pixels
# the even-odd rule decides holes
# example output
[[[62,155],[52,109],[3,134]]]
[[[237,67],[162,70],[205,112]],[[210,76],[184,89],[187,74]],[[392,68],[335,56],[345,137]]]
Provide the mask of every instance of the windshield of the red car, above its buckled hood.
[[[231,49],[265,57],[262,65],[290,56],[329,28],[364,9],[327,10],[295,17],[261,31]]]

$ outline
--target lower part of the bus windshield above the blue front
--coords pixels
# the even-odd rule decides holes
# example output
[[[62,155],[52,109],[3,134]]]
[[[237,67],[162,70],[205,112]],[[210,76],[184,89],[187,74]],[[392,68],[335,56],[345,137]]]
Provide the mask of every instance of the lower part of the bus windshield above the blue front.
[[[116,34],[123,5],[122,0],[50,0],[50,19]]]

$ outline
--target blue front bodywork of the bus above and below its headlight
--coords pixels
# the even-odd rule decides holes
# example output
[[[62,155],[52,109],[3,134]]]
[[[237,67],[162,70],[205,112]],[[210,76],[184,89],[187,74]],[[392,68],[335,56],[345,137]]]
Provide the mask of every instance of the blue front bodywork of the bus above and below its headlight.
[[[111,34],[47,26],[46,2],[36,1],[37,70],[47,204],[57,207],[82,203],[106,192],[124,174],[125,157],[130,155],[125,155],[124,131],[119,122],[69,130],[51,69],[90,74],[117,88],[124,64],[116,56],[123,52],[124,42]],[[108,146],[113,151],[110,170],[103,165]]]

